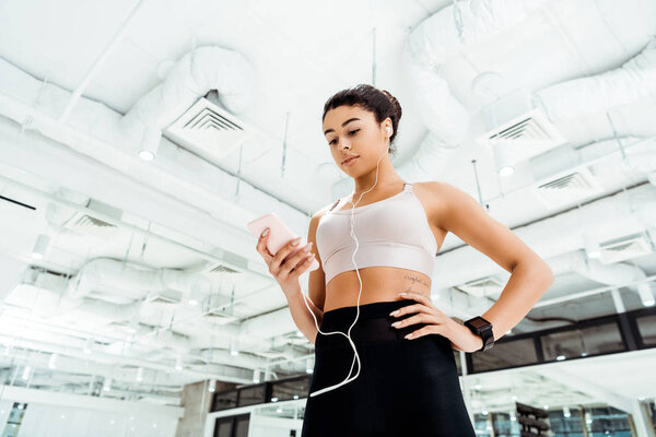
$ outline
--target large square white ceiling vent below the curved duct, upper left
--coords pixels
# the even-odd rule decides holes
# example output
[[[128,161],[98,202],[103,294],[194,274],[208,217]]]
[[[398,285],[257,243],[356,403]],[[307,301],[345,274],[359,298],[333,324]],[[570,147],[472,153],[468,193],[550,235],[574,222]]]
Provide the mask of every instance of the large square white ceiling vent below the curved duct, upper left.
[[[175,120],[164,133],[185,149],[206,157],[229,155],[244,140],[246,123],[220,107],[210,91]]]

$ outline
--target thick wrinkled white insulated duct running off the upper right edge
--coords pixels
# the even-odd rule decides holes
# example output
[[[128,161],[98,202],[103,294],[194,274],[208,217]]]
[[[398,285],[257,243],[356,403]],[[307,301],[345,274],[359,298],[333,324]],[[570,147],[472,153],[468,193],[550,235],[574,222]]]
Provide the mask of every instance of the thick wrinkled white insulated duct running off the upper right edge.
[[[618,135],[653,135],[656,123],[641,123],[641,131],[634,132],[622,117],[612,117],[613,108],[646,98],[656,102],[656,37],[645,48],[622,67],[589,78],[579,78],[548,86],[535,93],[535,104],[541,106],[554,122],[599,115],[606,121],[605,134],[594,138]],[[609,127],[609,125],[612,126]]]

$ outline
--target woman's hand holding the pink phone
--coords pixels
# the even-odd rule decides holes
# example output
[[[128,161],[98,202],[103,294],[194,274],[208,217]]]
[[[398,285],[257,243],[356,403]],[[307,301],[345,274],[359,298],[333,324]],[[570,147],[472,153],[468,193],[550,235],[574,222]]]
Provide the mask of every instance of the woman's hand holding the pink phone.
[[[297,290],[298,276],[309,268],[312,261],[315,259],[315,255],[309,252],[312,243],[308,243],[294,253],[293,257],[285,260],[286,256],[298,247],[297,245],[301,243],[301,237],[290,239],[276,255],[271,255],[267,248],[269,235],[270,233],[260,235],[259,241],[257,243],[257,251],[265,259],[267,265],[269,265],[269,273],[278,281],[283,293],[291,293],[294,290]],[[292,244],[294,241],[296,241],[296,245]]]

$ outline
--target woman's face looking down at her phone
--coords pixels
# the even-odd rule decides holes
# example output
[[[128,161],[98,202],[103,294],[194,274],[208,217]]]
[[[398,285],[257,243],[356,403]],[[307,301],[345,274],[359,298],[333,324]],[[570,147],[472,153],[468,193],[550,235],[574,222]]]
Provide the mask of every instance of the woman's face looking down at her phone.
[[[356,175],[375,166],[380,154],[386,153],[387,133],[391,120],[386,118],[378,125],[374,114],[359,106],[342,105],[328,110],[324,118],[324,134],[337,166],[349,175]],[[359,156],[344,164],[349,156]]]

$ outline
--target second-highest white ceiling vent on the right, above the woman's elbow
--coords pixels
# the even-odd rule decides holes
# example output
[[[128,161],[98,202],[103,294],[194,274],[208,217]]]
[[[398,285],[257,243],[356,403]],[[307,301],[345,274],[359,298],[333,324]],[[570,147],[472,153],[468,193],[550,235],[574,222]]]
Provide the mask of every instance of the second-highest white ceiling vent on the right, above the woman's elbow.
[[[604,192],[604,188],[587,167],[558,175],[551,180],[539,185],[537,189],[540,194],[538,199],[542,200],[550,210],[586,200]]]

